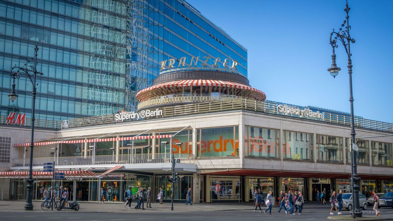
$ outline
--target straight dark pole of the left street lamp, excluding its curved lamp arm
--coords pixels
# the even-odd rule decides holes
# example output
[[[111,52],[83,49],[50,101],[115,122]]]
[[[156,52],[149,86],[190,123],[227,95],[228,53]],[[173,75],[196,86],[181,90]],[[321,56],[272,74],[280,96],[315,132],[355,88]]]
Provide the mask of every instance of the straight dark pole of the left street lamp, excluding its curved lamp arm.
[[[37,43],[35,44],[34,47],[35,50],[35,60],[34,60],[34,69],[37,70],[37,52],[38,52],[38,46]],[[27,179],[27,197],[26,197],[26,204],[25,204],[25,210],[33,210],[33,203],[32,203],[32,197],[33,197],[33,149],[34,149],[34,123],[35,123],[35,95],[37,94],[37,88],[35,87],[36,85],[36,76],[37,74],[34,74],[34,80],[33,80],[33,111],[31,115],[31,142],[30,142],[30,165],[29,165],[29,178]]]

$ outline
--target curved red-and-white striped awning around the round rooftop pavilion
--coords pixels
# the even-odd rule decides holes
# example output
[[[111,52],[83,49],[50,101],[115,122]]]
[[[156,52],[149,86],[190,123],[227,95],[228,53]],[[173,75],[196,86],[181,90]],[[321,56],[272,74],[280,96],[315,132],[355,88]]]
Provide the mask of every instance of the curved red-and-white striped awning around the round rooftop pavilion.
[[[136,94],[136,99],[138,101],[143,101],[144,99],[149,98],[149,94],[151,90],[156,88],[171,88],[171,87],[185,87],[185,86],[217,86],[217,87],[232,87],[239,88],[244,90],[251,90],[255,95],[255,97],[264,101],[266,99],[266,94],[258,89],[253,87],[243,85],[241,83],[234,83],[231,81],[218,81],[218,80],[181,80],[181,81],[170,81],[165,83],[160,83],[158,85],[154,85],[152,87],[145,88]]]

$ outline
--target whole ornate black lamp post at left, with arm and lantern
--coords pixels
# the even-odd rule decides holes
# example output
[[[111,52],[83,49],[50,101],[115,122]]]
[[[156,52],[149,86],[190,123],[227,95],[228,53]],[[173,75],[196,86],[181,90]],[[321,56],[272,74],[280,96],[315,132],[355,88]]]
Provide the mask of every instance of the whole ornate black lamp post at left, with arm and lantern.
[[[35,54],[34,57],[30,58],[26,64],[22,67],[17,67],[16,64],[11,68],[11,71],[9,72],[9,75],[13,78],[13,83],[12,83],[12,90],[11,93],[8,94],[9,99],[14,102],[17,98],[18,95],[15,93],[15,79],[19,78],[20,74],[25,74],[29,79],[30,82],[33,84],[33,112],[31,115],[31,142],[30,142],[30,167],[29,167],[29,178],[27,179],[27,196],[26,196],[26,204],[25,204],[25,210],[33,210],[33,203],[32,203],[32,197],[33,197],[33,147],[34,147],[34,112],[35,112],[35,95],[37,94],[37,88],[36,88],[36,76],[37,75],[43,75],[42,72],[37,71],[37,52],[38,52],[38,46],[37,43],[35,44],[34,47]],[[28,65],[30,61],[34,58],[34,65]]]

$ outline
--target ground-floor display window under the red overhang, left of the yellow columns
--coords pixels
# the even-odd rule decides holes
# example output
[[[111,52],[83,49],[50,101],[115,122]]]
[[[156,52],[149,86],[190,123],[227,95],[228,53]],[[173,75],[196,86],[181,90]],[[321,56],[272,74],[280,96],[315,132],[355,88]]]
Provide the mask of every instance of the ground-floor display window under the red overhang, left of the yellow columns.
[[[211,200],[241,200],[240,177],[210,177]]]

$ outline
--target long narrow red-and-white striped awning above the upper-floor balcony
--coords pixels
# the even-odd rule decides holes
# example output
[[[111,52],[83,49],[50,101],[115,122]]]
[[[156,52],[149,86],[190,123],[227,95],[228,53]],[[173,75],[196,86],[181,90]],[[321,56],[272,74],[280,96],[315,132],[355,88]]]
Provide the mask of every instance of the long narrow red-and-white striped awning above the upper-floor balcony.
[[[119,138],[99,138],[99,139],[88,139],[88,140],[62,140],[62,141],[51,141],[51,142],[37,142],[34,143],[35,146],[50,145],[50,144],[79,144],[79,143],[92,143],[92,142],[107,142],[107,141],[117,141],[117,140],[145,140],[145,139],[156,139],[156,138],[171,138],[172,134],[167,135],[152,135],[152,136],[128,136]],[[14,144],[14,147],[24,147],[29,146],[30,143],[24,144]]]

